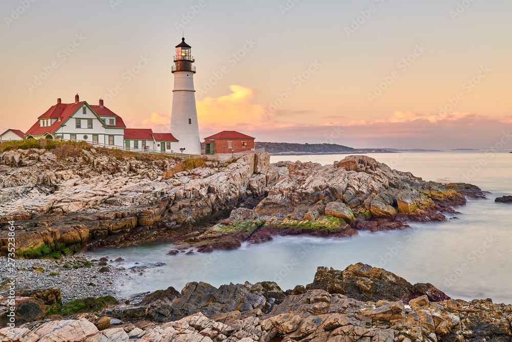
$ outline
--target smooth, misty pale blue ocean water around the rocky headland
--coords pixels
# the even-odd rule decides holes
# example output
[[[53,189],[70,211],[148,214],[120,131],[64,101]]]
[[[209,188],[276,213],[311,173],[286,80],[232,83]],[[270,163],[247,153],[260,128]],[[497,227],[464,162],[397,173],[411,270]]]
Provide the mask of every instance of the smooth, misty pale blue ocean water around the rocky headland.
[[[512,154],[482,152],[418,152],[369,154],[394,169],[410,171],[425,180],[465,182],[488,191],[487,199],[468,200],[456,218],[410,229],[360,232],[352,238],[276,237],[262,245],[244,245],[234,251],[210,254],[166,253],[172,244],[92,251],[90,257],[122,257],[120,265],[165,263],[143,275],[127,273],[115,284],[119,296],[173,286],[189,281],[214,286],[276,281],[283,290],[312,282],[318,266],[343,270],[354,263],[382,267],[411,283],[432,283],[453,298],[493,298],[512,304],[512,205],[495,203],[512,195]],[[331,164],[345,155],[272,156],[278,160]]]

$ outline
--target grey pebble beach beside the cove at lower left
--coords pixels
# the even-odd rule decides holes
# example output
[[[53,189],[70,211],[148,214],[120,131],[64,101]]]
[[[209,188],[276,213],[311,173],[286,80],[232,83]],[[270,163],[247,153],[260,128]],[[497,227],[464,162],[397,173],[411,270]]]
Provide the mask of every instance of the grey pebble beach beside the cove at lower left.
[[[67,256],[58,260],[16,259],[15,288],[60,288],[63,303],[84,297],[105,295],[122,299],[116,296],[118,292],[116,284],[119,284],[120,280],[122,283],[130,283],[130,279],[133,278],[130,270],[125,270],[123,267],[116,266],[115,262],[109,261],[107,267],[110,272],[103,273],[100,269],[104,266],[95,262],[94,266],[86,267],[84,265],[88,265],[87,261],[81,256]],[[69,266],[66,267],[66,264]],[[80,267],[73,268],[73,265],[80,265]],[[51,276],[52,272],[59,274]],[[2,256],[0,257],[0,295],[7,293],[4,285],[9,281],[6,280],[9,275],[13,273],[7,267],[7,258]]]

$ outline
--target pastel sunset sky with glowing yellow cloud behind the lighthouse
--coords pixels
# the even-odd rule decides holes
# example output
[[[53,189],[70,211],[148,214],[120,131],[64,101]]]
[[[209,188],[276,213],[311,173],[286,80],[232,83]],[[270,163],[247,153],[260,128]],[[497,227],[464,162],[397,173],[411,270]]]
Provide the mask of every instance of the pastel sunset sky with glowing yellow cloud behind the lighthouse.
[[[511,13],[510,0],[3,0],[0,131],[76,93],[168,131],[184,34],[201,138],[487,149],[512,128]]]

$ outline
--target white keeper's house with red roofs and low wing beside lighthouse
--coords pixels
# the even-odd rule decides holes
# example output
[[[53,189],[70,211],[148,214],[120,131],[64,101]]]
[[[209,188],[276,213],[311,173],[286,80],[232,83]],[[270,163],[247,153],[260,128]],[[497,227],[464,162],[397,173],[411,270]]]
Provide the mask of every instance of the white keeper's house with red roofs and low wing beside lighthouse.
[[[5,133],[12,135],[10,131],[13,130]],[[98,105],[90,105],[80,101],[78,94],[71,104],[63,104],[58,98],[57,104],[39,116],[24,136],[26,139],[81,140],[134,151],[178,150],[178,140],[173,134],[126,128],[123,119],[106,108],[103,100],[100,99]]]

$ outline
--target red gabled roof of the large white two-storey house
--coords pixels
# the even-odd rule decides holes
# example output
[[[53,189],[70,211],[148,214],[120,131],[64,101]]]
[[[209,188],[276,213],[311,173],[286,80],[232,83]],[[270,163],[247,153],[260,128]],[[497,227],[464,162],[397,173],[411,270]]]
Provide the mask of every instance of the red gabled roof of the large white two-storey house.
[[[30,135],[43,135],[45,133],[54,133],[60,125],[62,125],[68,118],[71,117],[80,107],[83,106],[85,101],[72,103],[72,104],[56,104],[50,109],[46,111],[46,113],[42,114],[38,117],[38,119],[44,118],[60,118],[60,121],[56,121],[51,126],[41,127],[39,124],[39,120],[27,131],[27,134]],[[96,114],[100,116],[115,116],[116,117],[116,125],[107,125],[107,127],[119,127],[125,128],[124,122],[122,118],[112,112],[110,109],[102,106],[90,106]]]

